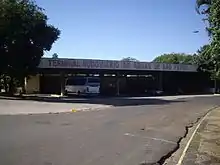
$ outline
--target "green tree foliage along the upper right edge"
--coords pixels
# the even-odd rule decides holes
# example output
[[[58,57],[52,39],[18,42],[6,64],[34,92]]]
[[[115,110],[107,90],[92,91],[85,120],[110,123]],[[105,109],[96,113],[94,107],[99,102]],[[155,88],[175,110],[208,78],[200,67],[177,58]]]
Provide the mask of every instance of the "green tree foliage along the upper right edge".
[[[200,50],[198,64],[202,70],[211,73],[212,78],[220,79],[220,0],[197,0],[197,9],[205,15],[210,36],[210,45]]]

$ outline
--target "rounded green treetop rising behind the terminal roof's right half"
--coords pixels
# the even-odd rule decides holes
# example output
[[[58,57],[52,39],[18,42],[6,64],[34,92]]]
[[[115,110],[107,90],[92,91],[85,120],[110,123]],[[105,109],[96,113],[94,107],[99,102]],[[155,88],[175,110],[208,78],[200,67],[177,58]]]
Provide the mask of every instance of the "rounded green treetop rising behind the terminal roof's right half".
[[[172,63],[172,64],[194,64],[195,57],[184,53],[163,54],[156,57],[153,62]]]

